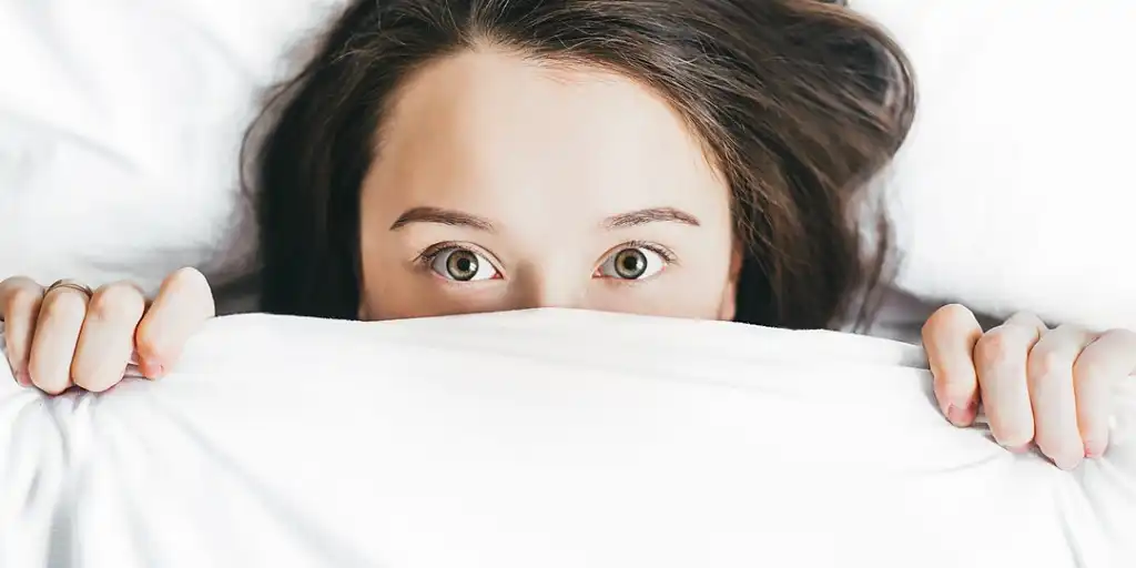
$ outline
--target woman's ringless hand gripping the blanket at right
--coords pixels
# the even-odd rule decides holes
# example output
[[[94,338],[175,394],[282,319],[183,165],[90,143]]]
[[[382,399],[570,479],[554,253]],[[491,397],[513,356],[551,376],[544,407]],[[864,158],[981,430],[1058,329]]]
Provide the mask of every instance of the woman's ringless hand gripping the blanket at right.
[[[1104,453],[1114,381],[1136,373],[1136,333],[1046,328],[1017,315],[983,333],[970,310],[947,306],[922,328],[935,396],[947,419],[969,426],[982,401],[994,438],[1037,448],[1062,469]]]

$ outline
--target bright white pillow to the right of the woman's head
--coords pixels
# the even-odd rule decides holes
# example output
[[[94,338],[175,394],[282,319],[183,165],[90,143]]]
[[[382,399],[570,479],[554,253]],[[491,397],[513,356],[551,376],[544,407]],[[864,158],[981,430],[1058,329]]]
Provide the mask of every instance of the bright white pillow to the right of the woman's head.
[[[900,285],[1136,328],[1136,2],[853,0],[914,62]]]

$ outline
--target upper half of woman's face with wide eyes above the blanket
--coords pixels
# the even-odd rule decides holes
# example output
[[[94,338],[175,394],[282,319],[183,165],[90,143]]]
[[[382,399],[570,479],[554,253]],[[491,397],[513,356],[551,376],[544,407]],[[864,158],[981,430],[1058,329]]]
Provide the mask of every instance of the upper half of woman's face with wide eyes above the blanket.
[[[501,51],[427,66],[361,200],[362,319],[734,316],[728,186],[666,101],[612,73]]]

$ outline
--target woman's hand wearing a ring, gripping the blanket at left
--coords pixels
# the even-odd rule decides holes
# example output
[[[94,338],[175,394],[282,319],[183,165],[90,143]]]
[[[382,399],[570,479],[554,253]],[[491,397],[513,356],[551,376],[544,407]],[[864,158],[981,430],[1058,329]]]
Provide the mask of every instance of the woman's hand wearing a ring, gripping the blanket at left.
[[[48,289],[18,276],[0,282],[16,381],[49,394],[72,385],[106,391],[122,381],[132,356],[148,378],[165,375],[214,311],[209,283],[192,268],[166,278],[152,303],[130,283],[91,292],[69,281]]]

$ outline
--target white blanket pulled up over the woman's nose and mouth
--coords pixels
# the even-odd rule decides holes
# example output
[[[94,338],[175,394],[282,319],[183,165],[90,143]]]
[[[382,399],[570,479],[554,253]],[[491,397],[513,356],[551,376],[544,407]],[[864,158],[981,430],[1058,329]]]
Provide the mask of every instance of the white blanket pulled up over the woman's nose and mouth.
[[[177,373],[0,376],[0,566],[1136,566],[1136,396],[1063,473],[918,348],[542,310],[218,319]]]

